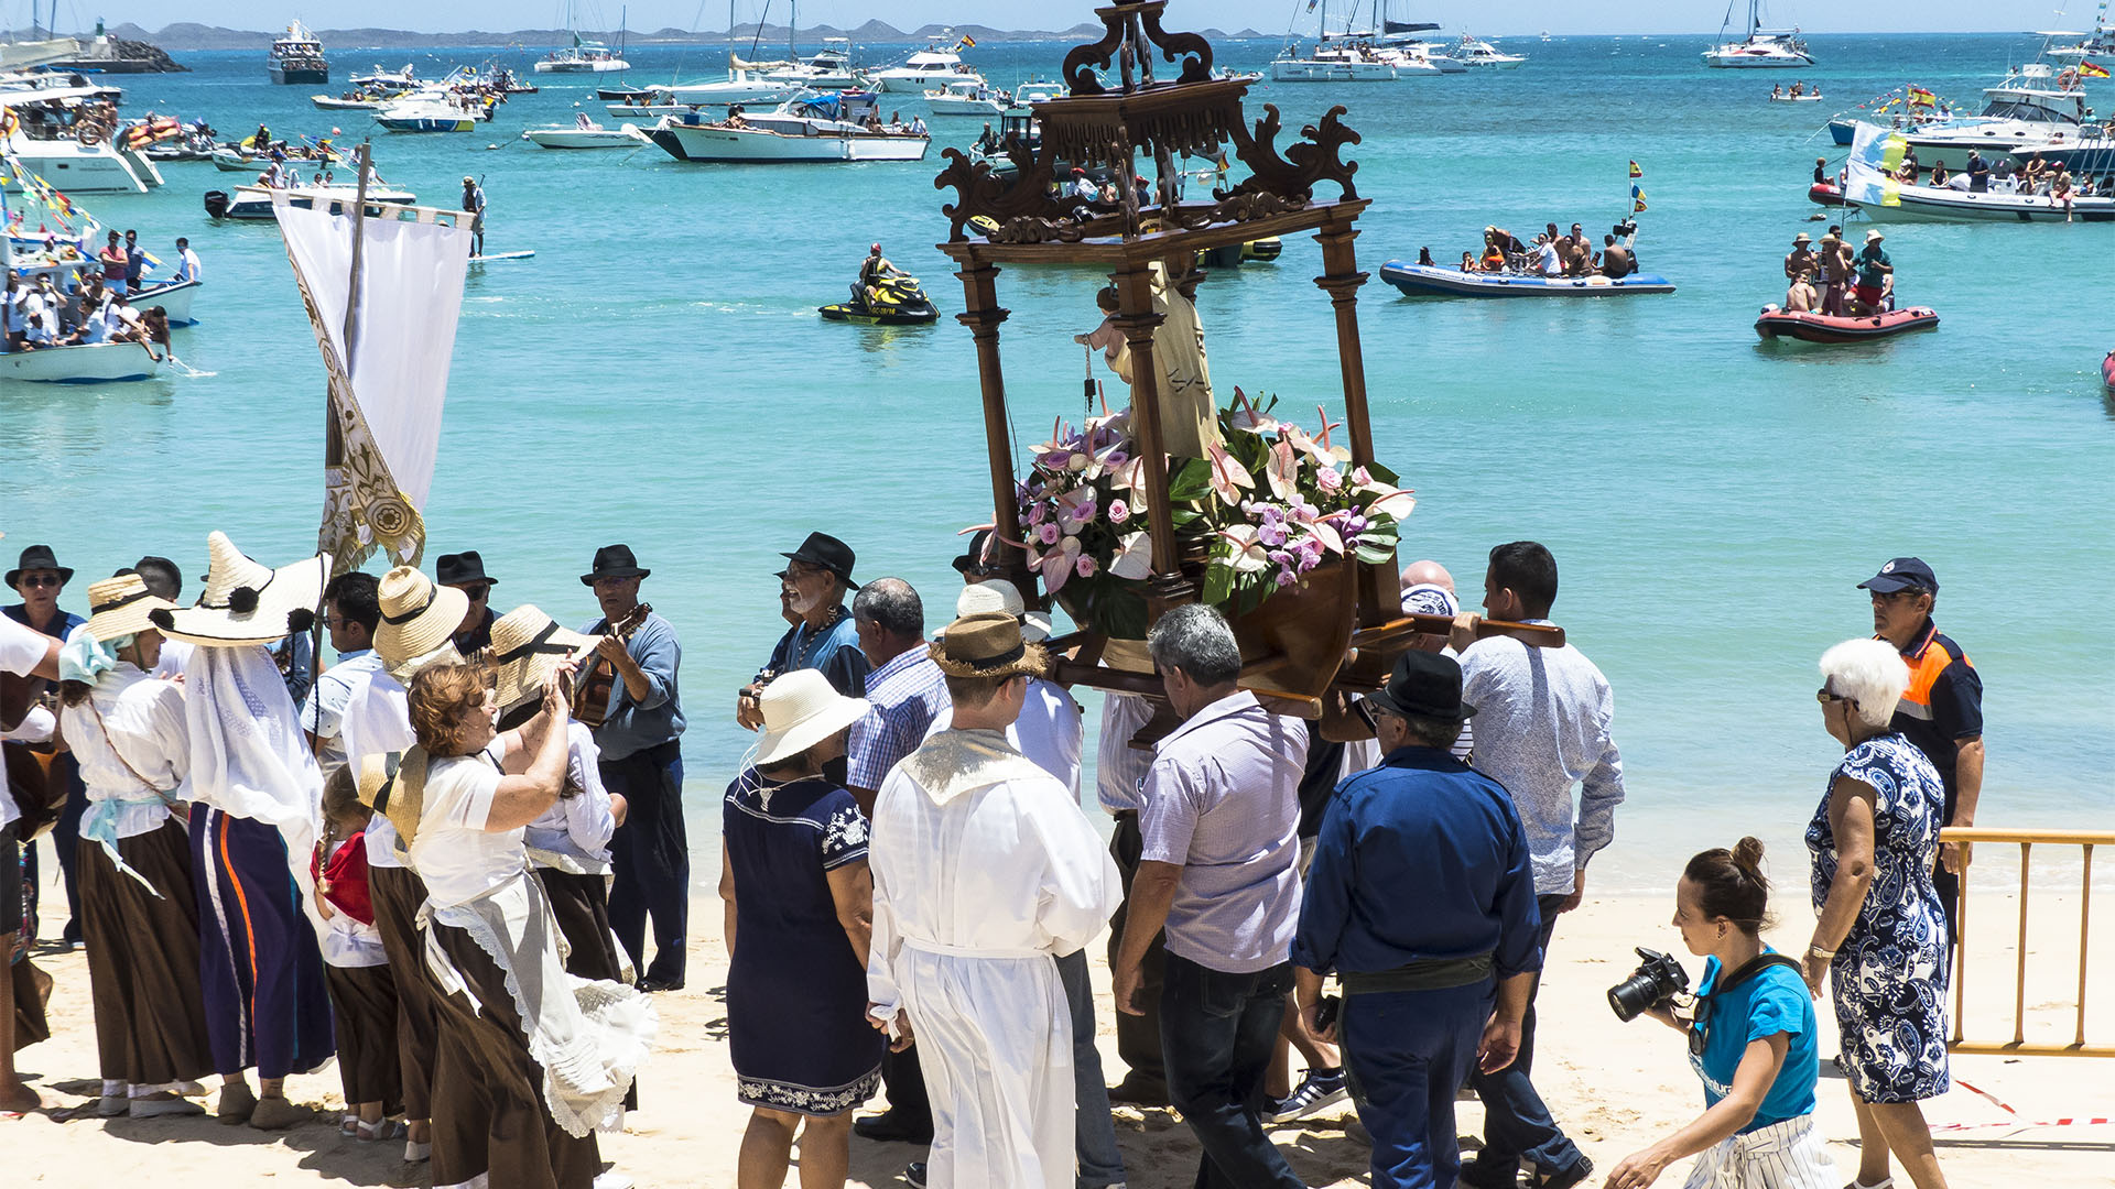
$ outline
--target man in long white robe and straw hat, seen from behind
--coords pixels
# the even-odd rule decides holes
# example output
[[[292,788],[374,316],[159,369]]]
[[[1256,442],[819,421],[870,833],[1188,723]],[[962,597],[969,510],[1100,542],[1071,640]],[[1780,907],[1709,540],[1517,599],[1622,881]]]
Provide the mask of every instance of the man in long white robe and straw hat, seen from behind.
[[[882,783],[867,865],[876,1026],[912,1037],[933,1100],[933,1189],[1072,1189],[1072,1026],[1053,956],[1091,941],[1121,886],[1079,802],[1007,743],[1045,654],[1003,611],[933,660],[954,728]]]

